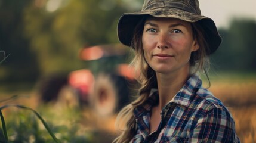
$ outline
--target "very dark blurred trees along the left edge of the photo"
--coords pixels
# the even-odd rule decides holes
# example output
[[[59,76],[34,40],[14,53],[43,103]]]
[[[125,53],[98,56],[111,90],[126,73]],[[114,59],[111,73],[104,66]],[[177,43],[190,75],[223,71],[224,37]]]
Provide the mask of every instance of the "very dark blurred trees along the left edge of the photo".
[[[0,1],[0,50],[10,54],[1,64],[0,83],[32,82],[40,74],[35,53],[30,51],[29,41],[23,35],[23,8],[30,2]],[[0,57],[2,60],[4,55]]]

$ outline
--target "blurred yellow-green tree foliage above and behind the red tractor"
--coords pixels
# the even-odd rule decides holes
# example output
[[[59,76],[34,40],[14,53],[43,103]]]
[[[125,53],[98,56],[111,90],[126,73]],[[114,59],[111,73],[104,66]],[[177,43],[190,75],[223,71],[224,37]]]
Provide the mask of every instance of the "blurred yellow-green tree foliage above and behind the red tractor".
[[[83,67],[77,56],[83,46],[117,43],[118,19],[128,11],[124,0],[58,1],[37,0],[24,9],[26,37],[44,74]]]

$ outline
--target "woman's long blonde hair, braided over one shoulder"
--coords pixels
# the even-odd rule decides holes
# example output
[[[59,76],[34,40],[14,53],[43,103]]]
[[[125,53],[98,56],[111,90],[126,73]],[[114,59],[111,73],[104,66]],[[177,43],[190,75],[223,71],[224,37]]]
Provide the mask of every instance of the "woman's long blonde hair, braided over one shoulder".
[[[140,73],[137,77],[141,88],[138,92],[137,100],[124,107],[118,114],[116,119],[116,127],[121,131],[120,135],[113,141],[117,143],[125,143],[131,141],[137,131],[136,120],[133,114],[134,108],[143,105],[147,100],[152,88],[157,88],[155,71],[146,63],[144,59],[144,52],[142,48],[142,33],[144,22],[147,17],[144,17],[139,21],[134,29],[134,37],[132,39],[131,47],[135,49],[135,57],[131,62],[131,66],[135,68],[135,73]],[[209,67],[209,60],[206,55],[208,50],[208,44],[203,35],[203,28],[198,23],[192,23],[193,38],[199,44],[199,49],[196,52],[192,52],[190,57],[190,66],[193,67],[192,74],[197,71],[206,71],[205,66]],[[206,74],[207,76],[207,74]],[[207,76],[208,77],[208,76]]]

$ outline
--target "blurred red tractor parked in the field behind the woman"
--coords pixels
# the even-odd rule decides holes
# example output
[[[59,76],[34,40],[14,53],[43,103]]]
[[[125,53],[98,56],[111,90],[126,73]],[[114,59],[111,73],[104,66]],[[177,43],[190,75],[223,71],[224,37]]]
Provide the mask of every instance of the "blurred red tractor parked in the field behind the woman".
[[[79,57],[87,69],[72,71],[68,76],[53,75],[41,80],[42,101],[63,100],[63,88],[72,94],[65,102],[76,100],[80,107],[90,106],[102,116],[114,114],[132,100],[136,86],[133,69],[128,66],[130,48],[121,44],[82,48]]]

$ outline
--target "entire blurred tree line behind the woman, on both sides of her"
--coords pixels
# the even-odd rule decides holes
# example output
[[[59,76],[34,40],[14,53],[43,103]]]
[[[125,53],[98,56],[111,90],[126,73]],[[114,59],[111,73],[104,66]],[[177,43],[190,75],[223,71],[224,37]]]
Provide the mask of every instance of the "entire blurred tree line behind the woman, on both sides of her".
[[[10,54],[0,65],[0,83],[35,82],[44,74],[87,67],[78,58],[79,49],[118,43],[119,17],[142,5],[122,0],[62,0],[50,11],[50,1],[0,2],[0,51]],[[130,2],[134,7],[127,7]],[[219,30],[223,42],[212,55],[214,67],[218,71],[255,71],[255,20],[233,20],[228,29]]]

